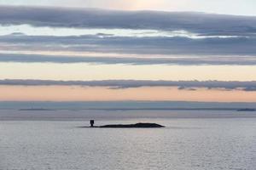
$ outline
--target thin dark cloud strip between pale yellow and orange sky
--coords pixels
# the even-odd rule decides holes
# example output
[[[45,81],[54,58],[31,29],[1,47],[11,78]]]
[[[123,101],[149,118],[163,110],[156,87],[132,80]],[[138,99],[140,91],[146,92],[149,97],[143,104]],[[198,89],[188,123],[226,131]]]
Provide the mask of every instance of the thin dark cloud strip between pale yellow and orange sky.
[[[138,81],[138,80],[102,80],[102,81],[53,81],[53,80],[0,80],[0,85],[9,86],[89,86],[108,88],[141,88],[141,87],[178,87],[180,90],[195,88],[224,88],[256,91],[256,81],[223,82],[223,81]]]

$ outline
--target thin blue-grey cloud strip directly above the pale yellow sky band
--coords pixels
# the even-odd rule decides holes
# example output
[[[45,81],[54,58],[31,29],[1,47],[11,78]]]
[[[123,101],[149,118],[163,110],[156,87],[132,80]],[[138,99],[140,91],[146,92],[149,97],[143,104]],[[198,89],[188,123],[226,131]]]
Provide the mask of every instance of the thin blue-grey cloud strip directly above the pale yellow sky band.
[[[102,54],[103,55],[103,54]],[[123,57],[123,56],[68,56],[43,54],[0,54],[0,62],[20,63],[96,63],[125,65],[256,65],[251,56],[201,56],[201,57]]]

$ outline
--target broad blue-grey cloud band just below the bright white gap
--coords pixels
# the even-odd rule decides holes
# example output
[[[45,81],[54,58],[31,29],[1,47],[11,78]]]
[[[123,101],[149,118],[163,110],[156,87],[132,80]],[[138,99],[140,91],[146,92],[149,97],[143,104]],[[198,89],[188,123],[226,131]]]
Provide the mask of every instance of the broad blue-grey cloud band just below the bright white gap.
[[[2,36],[2,50],[86,51],[117,54],[256,55],[256,37]]]

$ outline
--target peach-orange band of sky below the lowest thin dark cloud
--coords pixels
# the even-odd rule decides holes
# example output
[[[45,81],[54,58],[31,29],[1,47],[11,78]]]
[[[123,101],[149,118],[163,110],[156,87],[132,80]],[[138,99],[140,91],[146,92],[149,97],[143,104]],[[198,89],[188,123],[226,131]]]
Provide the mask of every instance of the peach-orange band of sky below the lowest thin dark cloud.
[[[201,88],[195,91],[177,88],[0,86],[1,101],[108,101],[108,100],[182,100],[216,102],[256,102],[256,92]]]

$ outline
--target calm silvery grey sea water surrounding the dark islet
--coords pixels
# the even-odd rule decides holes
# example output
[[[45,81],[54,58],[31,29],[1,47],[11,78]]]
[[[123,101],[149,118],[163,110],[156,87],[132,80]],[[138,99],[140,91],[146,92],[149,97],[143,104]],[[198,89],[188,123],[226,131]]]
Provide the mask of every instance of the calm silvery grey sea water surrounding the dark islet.
[[[0,169],[256,168],[253,112],[87,112],[1,111]],[[90,117],[101,125],[156,122],[166,127],[80,128],[89,124]]]

